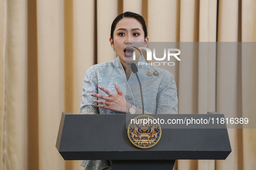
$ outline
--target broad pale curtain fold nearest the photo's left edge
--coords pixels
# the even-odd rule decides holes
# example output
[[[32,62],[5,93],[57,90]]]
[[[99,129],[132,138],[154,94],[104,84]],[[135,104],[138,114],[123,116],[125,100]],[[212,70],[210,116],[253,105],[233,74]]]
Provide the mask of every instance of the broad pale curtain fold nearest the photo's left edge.
[[[6,1],[3,170],[27,169],[27,4]],[[3,48],[3,47],[1,47]]]

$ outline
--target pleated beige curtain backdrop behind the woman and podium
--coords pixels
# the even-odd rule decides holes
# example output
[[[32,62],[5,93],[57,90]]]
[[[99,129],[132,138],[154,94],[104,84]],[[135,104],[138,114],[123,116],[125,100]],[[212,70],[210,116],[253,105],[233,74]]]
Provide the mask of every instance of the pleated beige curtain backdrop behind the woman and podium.
[[[60,117],[78,113],[86,70],[115,58],[118,14],[141,14],[151,42],[253,42],[255,9],[255,0],[0,0],[0,170],[83,169],[55,148]],[[179,113],[253,117],[256,50],[231,52],[216,47],[172,68]],[[256,130],[228,131],[226,160],[178,160],[175,170],[254,170]]]

